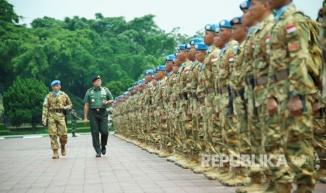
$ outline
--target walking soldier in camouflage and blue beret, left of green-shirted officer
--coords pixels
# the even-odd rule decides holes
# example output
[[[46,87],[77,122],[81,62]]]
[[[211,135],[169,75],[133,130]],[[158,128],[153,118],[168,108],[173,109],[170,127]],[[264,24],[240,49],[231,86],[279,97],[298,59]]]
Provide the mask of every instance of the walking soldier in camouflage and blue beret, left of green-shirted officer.
[[[64,120],[64,113],[72,108],[72,101],[69,96],[62,92],[60,80],[53,80],[51,83],[52,92],[46,95],[43,102],[42,124],[46,126],[48,120],[48,134],[51,139],[51,149],[53,150],[53,159],[59,158],[57,149],[57,136],[60,139],[61,155],[66,155],[65,145],[67,143],[67,126]]]

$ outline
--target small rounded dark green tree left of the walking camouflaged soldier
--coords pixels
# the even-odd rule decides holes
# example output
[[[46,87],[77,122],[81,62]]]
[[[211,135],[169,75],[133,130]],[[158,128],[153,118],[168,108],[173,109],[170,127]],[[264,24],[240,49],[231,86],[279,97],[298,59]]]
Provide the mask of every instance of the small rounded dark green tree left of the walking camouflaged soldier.
[[[30,123],[35,133],[36,124],[41,123],[42,104],[47,92],[43,82],[18,77],[4,93],[4,111],[11,124]]]

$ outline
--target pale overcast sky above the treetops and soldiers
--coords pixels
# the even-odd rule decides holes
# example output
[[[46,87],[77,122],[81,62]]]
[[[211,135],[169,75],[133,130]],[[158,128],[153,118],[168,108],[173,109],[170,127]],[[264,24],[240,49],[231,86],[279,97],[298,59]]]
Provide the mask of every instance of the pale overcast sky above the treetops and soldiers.
[[[205,24],[220,20],[231,20],[240,16],[239,5],[244,0],[7,0],[14,6],[15,13],[21,15],[20,24],[29,24],[44,16],[64,20],[64,17],[86,17],[95,19],[95,13],[104,17],[125,17],[130,21],[135,17],[156,15],[154,21],[166,33],[180,27],[179,33],[193,36]],[[309,17],[317,17],[322,0],[293,0],[299,10]]]

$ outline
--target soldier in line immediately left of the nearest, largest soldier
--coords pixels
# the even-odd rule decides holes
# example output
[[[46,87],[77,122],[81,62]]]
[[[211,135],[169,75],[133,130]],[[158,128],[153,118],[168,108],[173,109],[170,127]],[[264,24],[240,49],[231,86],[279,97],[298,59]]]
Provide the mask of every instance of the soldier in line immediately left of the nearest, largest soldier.
[[[255,20],[259,21],[259,26],[254,31],[254,39],[252,46],[253,48],[253,69],[252,73],[254,76],[254,115],[252,115],[252,124],[250,124],[250,133],[252,134],[252,152],[254,155],[259,156],[267,154],[268,156],[272,153],[278,157],[278,152],[272,152],[273,142],[279,141],[280,131],[278,125],[278,117],[276,115],[269,116],[266,112],[266,92],[267,92],[267,73],[269,71],[269,55],[266,52],[266,45],[270,40],[270,32],[273,27],[274,17],[271,14],[271,8],[267,0],[251,0],[250,1],[251,15]],[[266,138],[275,137],[273,141],[266,142]],[[277,143],[277,142],[276,142]],[[264,144],[264,149],[262,145]],[[257,159],[257,163],[259,159]],[[276,164],[277,159],[272,159],[273,163]],[[269,170],[269,166],[259,166],[254,164],[251,167],[250,172],[257,172],[257,178],[260,176],[260,180],[264,181],[266,176],[265,185],[266,191],[273,191],[275,189],[273,183],[273,176]],[[254,176],[254,174],[253,174]],[[266,189],[263,187],[262,189]]]

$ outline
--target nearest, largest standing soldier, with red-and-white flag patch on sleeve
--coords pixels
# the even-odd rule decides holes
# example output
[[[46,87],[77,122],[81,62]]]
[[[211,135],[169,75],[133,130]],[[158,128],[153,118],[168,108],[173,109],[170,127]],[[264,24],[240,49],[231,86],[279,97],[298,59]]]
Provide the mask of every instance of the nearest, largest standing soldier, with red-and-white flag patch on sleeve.
[[[282,141],[273,149],[280,149],[281,153],[284,149],[294,172],[293,176],[285,164],[275,167],[275,171],[271,168],[276,192],[290,192],[293,182],[297,192],[311,192],[315,186],[312,95],[317,90],[308,74],[309,29],[304,25],[304,15],[297,13],[291,1],[269,3],[277,15],[269,41],[271,68],[266,108],[269,115],[277,114],[280,118]]]

